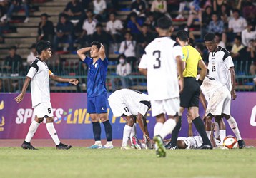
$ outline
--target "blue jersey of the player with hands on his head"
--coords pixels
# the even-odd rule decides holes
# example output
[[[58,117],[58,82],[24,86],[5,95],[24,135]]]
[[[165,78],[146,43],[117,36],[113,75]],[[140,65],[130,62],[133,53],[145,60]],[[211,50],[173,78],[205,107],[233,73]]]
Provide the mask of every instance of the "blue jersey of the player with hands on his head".
[[[108,59],[105,58],[104,61],[102,61],[99,58],[98,61],[93,63],[92,58],[86,57],[84,63],[88,66],[87,97],[95,97],[106,93]]]

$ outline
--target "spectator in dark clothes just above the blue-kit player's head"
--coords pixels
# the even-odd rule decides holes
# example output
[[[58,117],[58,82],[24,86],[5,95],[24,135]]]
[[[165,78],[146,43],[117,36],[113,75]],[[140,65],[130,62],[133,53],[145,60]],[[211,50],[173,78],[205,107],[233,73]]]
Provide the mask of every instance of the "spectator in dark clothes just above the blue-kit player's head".
[[[104,45],[106,56],[109,56],[109,41],[111,40],[111,36],[102,28],[102,23],[98,23],[96,31],[92,34],[92,41],[99,41]]]

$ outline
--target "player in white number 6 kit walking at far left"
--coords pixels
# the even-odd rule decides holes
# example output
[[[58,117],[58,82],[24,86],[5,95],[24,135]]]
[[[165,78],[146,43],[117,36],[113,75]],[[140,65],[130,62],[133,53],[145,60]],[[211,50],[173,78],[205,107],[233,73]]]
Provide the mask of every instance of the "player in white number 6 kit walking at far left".
[[[36,43],[36,51],[38,56],[34,62],[31,63],[31,67],[29,69],[29,73],[26,75],[21,93],[15,98],[16,103],[20,103],[21,100],[23,100],[26,88],[29,86],[29,82],[31,81],[32,108],[34,108],[36,117],[31,122],[29,132],[21,147],[24,149],[35,150],[30,143],[31,139],[36,133],[40,123],[43,122],[44,118],[46,118],[46,128],[51,135],[51,138],[54,140],[56,148],[67,150],[72,146],[64,145],[59,141],[59,137],[56,134],[56,130],[53,125],[54,115],[52,113],[53,110],[51,108],[50,101],[49,78],[57,82],[69,82],[74,85],[77,85],[78,80],[61,78],[54,75],[54,73],[48,69],[45,61],[51,58],[51,44],[49,41],[39,41]]]

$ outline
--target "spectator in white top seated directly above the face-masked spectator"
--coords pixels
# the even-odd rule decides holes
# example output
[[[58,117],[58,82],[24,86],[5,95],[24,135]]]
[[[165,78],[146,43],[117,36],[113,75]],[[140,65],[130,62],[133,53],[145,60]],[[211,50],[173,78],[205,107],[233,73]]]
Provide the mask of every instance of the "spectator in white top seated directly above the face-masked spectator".
[[[135,62],[137,61],[135,50],[136,50],[136,41],[133,40],[132,34],[127,31],[124,35],[125,40],[122,41],[120,48],[119,48],[119,53],[124,54],[127,57],[127,61],[129,63],[132,63],[135,65]]]

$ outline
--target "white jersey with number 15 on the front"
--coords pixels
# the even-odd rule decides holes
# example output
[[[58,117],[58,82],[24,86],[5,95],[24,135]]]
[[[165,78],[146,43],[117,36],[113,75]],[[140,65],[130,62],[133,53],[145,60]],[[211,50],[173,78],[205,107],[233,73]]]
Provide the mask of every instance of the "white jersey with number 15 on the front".
[[[210,77],[219,81],[231,90],[230,68],[234,67],[234,63],[230,53],[225,48],[220,48],[219,51],[209,53],[208,70]]]

